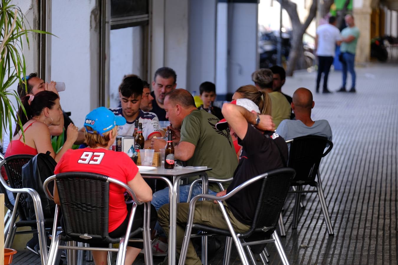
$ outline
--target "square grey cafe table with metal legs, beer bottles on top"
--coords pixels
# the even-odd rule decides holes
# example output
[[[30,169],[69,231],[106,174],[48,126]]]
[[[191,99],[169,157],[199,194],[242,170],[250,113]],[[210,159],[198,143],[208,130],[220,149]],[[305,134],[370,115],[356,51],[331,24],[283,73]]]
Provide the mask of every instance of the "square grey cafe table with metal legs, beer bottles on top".
[[[169,265],[176,264],[176,223],[177,223],[177,203],[179,202],[179,180],[191,176],[200,176],[202,178],[203,193],[208,191],[208,181],[206,171],[211,168],[195,167],[175,167],[174,169],[164,169],[157,167],[150,171],[140,171],[144,178],[161,179],[169,186],[170,198],[170,228],[169,228]],[[205,252],[205,251],[203,251]]]

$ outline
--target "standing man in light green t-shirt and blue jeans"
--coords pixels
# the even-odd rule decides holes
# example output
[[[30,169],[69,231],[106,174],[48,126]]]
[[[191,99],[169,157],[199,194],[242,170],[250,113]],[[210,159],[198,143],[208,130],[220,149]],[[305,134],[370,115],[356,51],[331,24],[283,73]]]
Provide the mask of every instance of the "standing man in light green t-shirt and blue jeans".
[[[338,92],[346,92],[345,85],[347,84],[347,70],[351,74],[351,89],[349,92],[355,93],[355,50],[357,48],[357,41],[359,38],[359,29],[355,26],[354,17],[351,14],[345,16],[345,23],[347,27],[341,31],[341,46],[340,52],[343,57],[343,85]]]

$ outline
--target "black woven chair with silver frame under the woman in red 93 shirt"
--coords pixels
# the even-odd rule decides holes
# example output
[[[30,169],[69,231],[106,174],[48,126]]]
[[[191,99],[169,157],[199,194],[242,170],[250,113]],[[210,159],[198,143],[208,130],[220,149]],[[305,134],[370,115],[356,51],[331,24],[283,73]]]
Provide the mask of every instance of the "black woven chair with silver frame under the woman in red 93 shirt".
[[[55,257],[59,249],[66,250],[99,250],[118,252],[116,265],[125,262],[127,248],[126,238],[143,232],[143,239],[130,239],[134,242],[144,242],[145,264],[152,265],[152,248],[150,241],[150,203],[144,203],[144,226],[131,231],[137,204],[140,202],[129,186],[114,178],[91,172],[66,172],[51,176],[45,180],[43,187],[47,196],[54,199],[48,190],[48,184],[56,181],[59,199],[61,203],[62,217],[64,220],[64,231],[56,236],[53,232],[53,240],[49,251],[47,265],[55,263]],[[133,208],[129,217],[129,224],[124,237],[111,238],[108,234],[108,208],[109,208],[109,183],[126,189],[134,199]],[[57,205],[54,219],[58,219],[59,207]],[[119,248],[93,248],[82,245],[60,246],[60,240],[66,242],[81,243],[119,243]],[[73,262],[74,255],[68,255],[68,264]]]

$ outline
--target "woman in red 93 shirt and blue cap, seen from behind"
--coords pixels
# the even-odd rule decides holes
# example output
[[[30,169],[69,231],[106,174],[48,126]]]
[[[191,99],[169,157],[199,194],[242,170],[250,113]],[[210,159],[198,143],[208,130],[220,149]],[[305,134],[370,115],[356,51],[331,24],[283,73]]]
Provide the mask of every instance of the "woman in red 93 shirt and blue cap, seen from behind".
[[[93,172],[120,180],[133,189],[140,201],[151,201],[152,190],[138,171],[137,165],[127,154],[109,150],[117,136],[117,126],[126,123],[122,116],[115,116],[105,107],[94,109],[86,116],[84,127],[88,147],[68,150],[55,167],[54,173],[62,172]],[[125,235],[129,221],[129,211],[125,203],[124,192],[119,186],[109,184],[109,236],[118,238]],[[54,185],[54,201],[60,204],[57,185]],[[132,230],[142,226],[143,205],[138,205]],[[151,226],[154,227],[157,215],[151,205]],[[91,246],[93,246],[91,244]],[[99,244],[98,247],[107,247]],[[142,243],[129,242],[125,264],[131,264],[140,253]],[[92,251],[95,264],[107,263],[106,251]]]

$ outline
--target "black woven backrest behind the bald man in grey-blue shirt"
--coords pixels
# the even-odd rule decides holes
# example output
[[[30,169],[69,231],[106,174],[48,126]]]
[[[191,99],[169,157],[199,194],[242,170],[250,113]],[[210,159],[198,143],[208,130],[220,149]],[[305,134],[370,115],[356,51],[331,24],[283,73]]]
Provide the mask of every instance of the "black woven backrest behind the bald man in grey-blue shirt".
[[[324,153],[326,144],[329,148]],[[318,172],[322,157],[327,155],[333,147],[332,141],[318,135],[307,135],[293,139],[290,144],[288,166],[296,170],[292,186],[297,184],[312,184]]]

